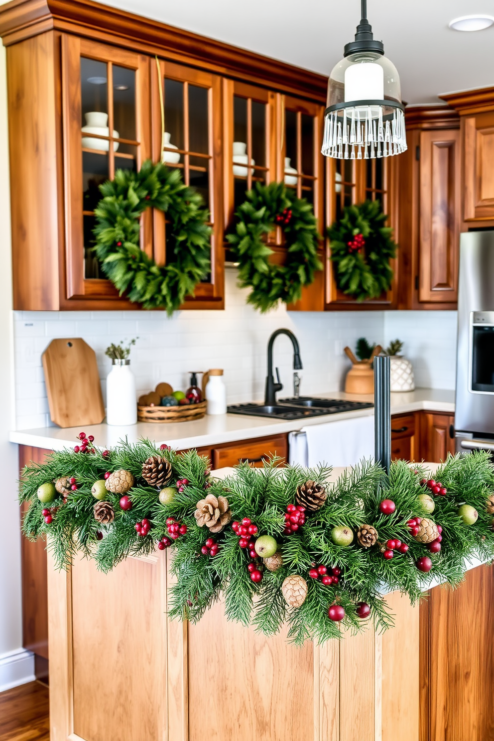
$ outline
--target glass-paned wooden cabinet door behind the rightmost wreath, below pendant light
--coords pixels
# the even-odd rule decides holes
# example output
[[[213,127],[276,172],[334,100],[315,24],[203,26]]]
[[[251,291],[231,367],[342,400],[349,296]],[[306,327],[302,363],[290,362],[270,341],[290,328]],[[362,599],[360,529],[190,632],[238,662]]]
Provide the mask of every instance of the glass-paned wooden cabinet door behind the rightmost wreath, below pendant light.
[[[388,224],[395,229],[398,226],[396,173],[397,158],[381,159],[327,159],[326,164],[326,227],[341,219],[345,207],[362,203],[365,200],[380,201]],[[395,239],[397,236],[395,235]],[[390,308],[395,302],[395,286],[377,299],[357,302],[338,288],[336,269],[330,260],[331,248],[327,242],[326,254],[326,307],[341,310],[368,310]],[[393,260],[392,268],[396,269],[397,261]]]

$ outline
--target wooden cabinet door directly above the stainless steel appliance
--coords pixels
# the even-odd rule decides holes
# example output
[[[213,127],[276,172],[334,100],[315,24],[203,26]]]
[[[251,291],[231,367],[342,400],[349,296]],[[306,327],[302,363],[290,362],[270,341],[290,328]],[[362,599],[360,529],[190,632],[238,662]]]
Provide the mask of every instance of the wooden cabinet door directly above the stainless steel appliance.
[[[464,127],[464,219],[494,219],[494,113],[466,116]]]

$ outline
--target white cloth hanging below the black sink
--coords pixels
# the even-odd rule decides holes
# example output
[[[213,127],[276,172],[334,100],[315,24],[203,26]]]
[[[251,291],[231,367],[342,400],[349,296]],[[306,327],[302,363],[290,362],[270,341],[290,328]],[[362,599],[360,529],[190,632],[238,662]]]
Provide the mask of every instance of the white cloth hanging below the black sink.
[[[374,416],[310,425],[290,433],[289,442],[290,465],[356,465],[374,457]]]

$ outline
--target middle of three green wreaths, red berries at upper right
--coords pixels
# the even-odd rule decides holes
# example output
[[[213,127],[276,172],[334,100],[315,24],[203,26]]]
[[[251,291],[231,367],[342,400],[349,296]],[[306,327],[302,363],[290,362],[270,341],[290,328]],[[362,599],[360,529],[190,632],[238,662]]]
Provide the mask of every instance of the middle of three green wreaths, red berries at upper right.
[[[298,301],[302,287],[313,282],[316,270],[322,270],[312,205],[291,196],[284,183],[256,183],[247,193],[247,200],[238,207],[236,218],[235,233],[228,234],[227,240],[240,264],[238,285],[252,288],[247,302],[264,312],[280,301],[285,304]],[[265,239],[276,226],[284,232],[285,265],[269,262],[273,250]]]

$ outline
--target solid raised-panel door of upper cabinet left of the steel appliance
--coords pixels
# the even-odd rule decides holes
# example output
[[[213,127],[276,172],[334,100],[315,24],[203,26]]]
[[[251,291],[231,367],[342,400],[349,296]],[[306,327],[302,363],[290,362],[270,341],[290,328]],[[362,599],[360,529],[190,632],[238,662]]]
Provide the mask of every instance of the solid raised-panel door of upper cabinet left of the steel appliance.
[[[422,131],[420,142],[418,300],[455,303],[461,220],[460,132]]]

